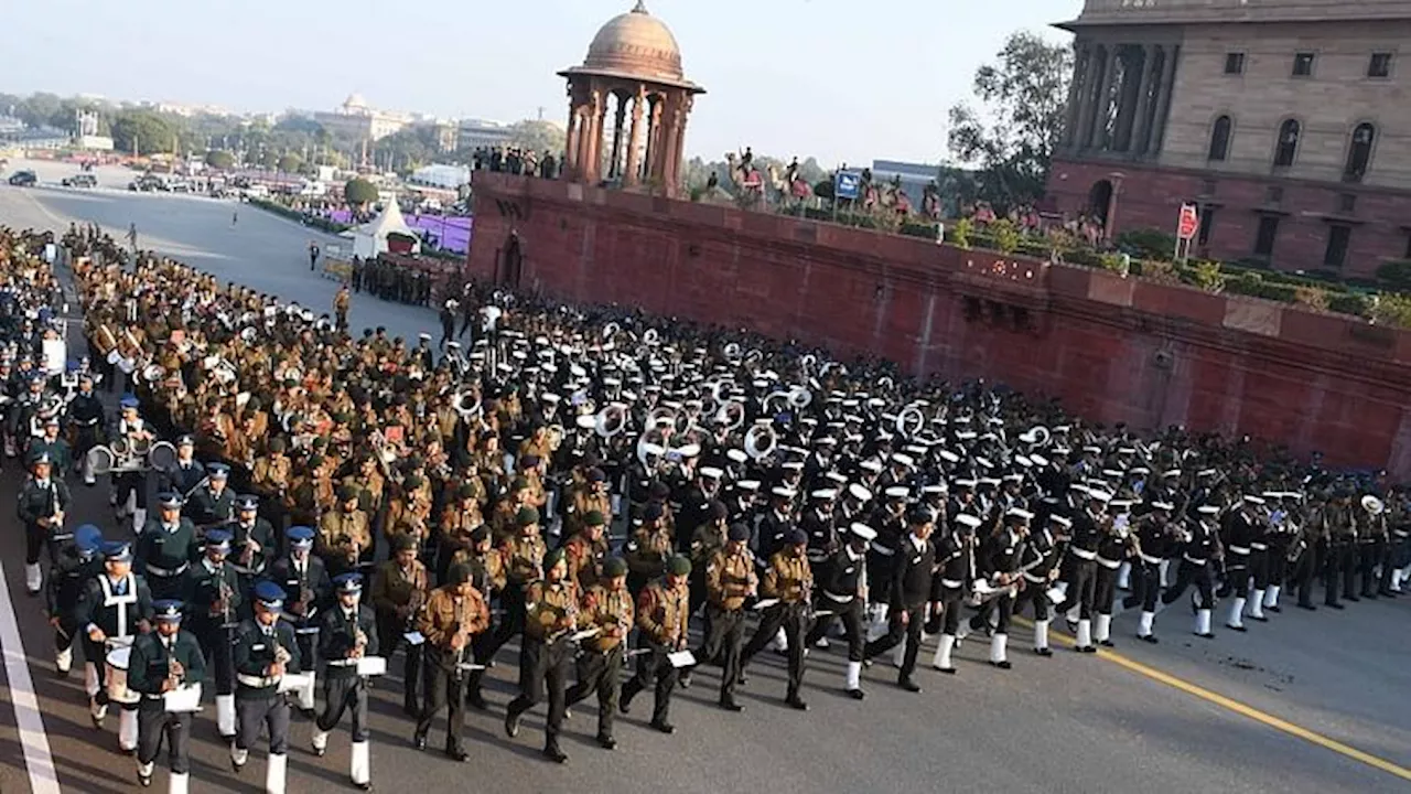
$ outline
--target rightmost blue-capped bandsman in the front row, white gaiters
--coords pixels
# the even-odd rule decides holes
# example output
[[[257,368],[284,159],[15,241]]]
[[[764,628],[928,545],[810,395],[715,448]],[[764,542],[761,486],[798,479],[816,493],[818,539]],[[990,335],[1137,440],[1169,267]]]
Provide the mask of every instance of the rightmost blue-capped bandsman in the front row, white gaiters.
[[[337,603],[319,616],[319,657],[325,661],[323,713],[313,723],[313,754],[329,749],[329,732],[353,712],[353,786],[373,788],[371,754],[367,739],[367,678],[357,665],[364,657],[378,656],[377,619],[363,603],[363,575],[343,574],[333,582]]]

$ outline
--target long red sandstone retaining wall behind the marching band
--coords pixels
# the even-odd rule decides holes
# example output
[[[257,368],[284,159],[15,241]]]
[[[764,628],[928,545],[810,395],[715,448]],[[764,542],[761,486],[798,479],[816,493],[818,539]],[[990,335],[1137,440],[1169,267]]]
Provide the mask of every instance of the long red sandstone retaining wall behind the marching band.
[[[476,174],[468,270],[876,353],[1058,396],[1098,421],[1185,424],[1411,475],[1411,333],[1267,301],[926,240],[581,185]],[[978,309],[978,316],[975,309]]]

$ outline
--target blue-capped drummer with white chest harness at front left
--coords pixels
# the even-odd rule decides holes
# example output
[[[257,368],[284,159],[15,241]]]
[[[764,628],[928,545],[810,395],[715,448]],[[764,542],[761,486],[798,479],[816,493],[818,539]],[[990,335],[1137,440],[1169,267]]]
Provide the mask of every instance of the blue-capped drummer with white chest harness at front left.
[[[138,633],[151,627],[152,592],[133,572],[133,547],[121,541],[103,544],[103,574],[89,579],[73,609],[75,624],[86,634],[83,641],[83,688],[89,695],[89,715],[95,728],[103,728],[109,692],[104,660],[110,647],[131,644]],[[137,702],[120,704],[117,745],[123,752],[137,749]]]

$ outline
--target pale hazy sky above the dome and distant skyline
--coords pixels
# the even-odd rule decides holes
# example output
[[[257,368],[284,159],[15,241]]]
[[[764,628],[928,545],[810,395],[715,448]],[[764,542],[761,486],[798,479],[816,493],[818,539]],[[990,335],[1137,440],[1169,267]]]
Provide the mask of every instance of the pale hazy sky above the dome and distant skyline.
[[[0,90],[224,105],[567,117],[555,72],[634,0],[44,0],[7,3]],[[751,144],[824,165],[940,161],[945,112],[1012,31],[1082,0],[646,0],[696,102],[687,153]]]

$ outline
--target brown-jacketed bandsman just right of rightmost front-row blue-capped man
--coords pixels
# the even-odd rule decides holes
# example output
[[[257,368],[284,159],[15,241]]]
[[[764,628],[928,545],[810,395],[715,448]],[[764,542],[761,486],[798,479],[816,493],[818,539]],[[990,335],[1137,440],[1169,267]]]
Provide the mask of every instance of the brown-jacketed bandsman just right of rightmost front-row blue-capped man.
[[[430,574],[416,559],[416,538],[392,538],[392,558],[373,576],[373,610],[377,613],[377,639],[382,656],[391,658],[406,643],[406,665],[402,668],[402,711],[408,716],[422,715],[422,644],[411,643],[406,634],[416,629],[422,606],[430,593]]]

